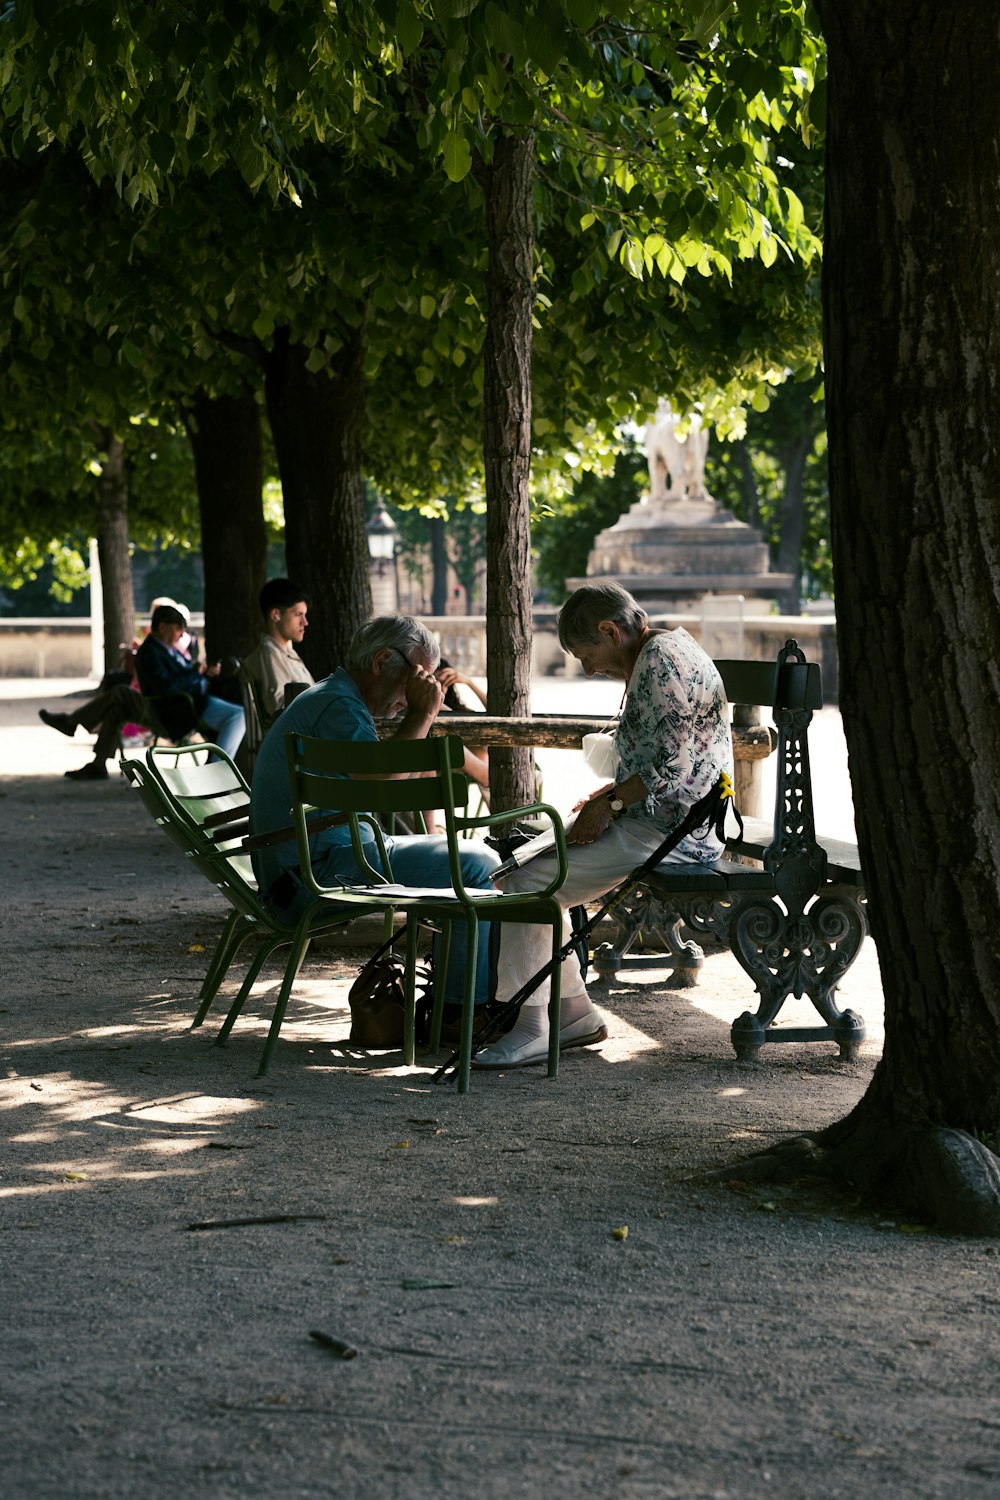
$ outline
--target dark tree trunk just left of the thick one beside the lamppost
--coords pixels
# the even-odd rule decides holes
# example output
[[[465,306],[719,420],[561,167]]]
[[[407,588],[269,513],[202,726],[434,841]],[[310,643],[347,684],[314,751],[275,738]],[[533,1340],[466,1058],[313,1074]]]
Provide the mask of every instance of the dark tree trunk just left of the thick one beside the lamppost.
[[[210,662],[243,657],[261,633],[258,594],[267,567],[261,408],[249,387],[240,396],[199,390],[186,426],[201,513],[205,654]]]

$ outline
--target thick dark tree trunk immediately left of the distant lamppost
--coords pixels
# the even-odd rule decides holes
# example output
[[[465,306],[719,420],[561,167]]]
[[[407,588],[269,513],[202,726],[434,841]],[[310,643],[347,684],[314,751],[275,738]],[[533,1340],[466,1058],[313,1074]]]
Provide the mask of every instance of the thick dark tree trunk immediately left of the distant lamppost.
[[[301,656],[313,676],[339,666],[372,614],[361,440],[364,328],[348,330],[327,369],[306,369],[309,350],[279,328],[265,356],[267,414],[285,496],[288,574],[309,596]]]

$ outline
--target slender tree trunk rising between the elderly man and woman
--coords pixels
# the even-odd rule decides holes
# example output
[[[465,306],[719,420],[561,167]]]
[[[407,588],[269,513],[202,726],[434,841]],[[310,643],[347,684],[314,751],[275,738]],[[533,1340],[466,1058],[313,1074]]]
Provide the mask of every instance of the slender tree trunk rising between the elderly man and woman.
[[[534,135],[501,135],[486,190],[487,330],[483,346],[486,460],[486,672],[490,714],[531,712],[531,318]],[[529,750],[490,752],[490,806],[534,801]]]

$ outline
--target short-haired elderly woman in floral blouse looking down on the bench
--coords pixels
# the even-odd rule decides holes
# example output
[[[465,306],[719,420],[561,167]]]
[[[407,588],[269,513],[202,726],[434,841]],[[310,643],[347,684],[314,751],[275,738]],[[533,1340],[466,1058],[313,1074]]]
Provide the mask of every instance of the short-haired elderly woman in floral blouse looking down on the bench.
[[[642,864],[681,822],[688,807],[732,776],[733,750],[723,680],[687,630],[657,630],[646,610],[618,584],[588,584],[559,612],[559,644],[588,676],[625,684],[615,734],[618,772],[580,804],[568,832],[570,873],[559,891],[568,910],[597,900]],[[712,864],[723,846],[714,832],[690,834],[667,855],[673,862]],[[552,876],[552,855],[511,873],[505,890],[534,890]],[[568,918],[564,936],[570,939]],[[504,924],[498,1000],[510,999],[547,958],[543,927]],[[576,954],[562,964],[559,1046],[585,1047],[607,1036],[591,1005]],[[507,1036],[480,1052],[478,1068],[523,1068],[549,1050],[549,984],[522,1006]]]

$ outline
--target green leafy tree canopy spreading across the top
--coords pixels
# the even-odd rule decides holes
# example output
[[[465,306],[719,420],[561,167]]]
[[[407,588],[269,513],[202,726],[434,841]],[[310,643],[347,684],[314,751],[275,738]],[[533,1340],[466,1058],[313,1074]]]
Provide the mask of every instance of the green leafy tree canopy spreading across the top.
[[[537,141],[538,488],[663,394],[738,429],[819,358],[823,78],[798,0],[208,0],[196,22],[19,0],[10,430],[40,412],[73,448],[90,420],[175,418],[198,386],[258,381],[277,330],[321,372],[363,321],[369,474],[400,504],[481,502],[481,204],[505,129]],[[162,534],[190,538],[151,471],[139,512],[147,480]]]

